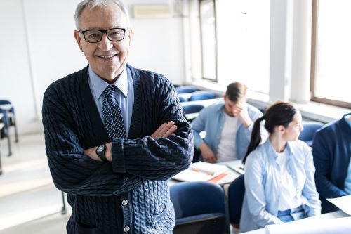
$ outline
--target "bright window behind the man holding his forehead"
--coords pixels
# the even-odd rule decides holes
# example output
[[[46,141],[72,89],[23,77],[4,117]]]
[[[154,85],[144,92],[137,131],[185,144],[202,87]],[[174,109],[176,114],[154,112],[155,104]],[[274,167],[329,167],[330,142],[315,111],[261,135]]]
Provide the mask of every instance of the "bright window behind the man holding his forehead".
[[[270,0],[200,1],[200,13],[203,77],[269,93]]]

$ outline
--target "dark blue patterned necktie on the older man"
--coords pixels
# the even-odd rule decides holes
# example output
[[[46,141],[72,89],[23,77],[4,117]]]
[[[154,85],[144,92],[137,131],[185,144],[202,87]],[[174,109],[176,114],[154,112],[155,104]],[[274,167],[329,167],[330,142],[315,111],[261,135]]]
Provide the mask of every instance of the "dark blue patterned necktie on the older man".
[[[111,140],[114,137],[126,138],[123,116],[119,103],[114,98],[114,89],[116,89],[114,85],[107,86],[103,92],[105,98],[102,101],[102,115]]]

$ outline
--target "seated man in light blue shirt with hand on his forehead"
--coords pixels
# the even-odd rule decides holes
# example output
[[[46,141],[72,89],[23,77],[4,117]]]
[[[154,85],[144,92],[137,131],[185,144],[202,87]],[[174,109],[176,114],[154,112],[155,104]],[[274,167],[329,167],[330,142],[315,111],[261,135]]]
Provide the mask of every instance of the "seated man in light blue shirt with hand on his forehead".
[[[244,157],[249,146],[253,122],[263,115],[246,103],[246,86],[234,82],[227,86],[224,103],[204,108],[192,122],[194,146],[205,162],[226,162]],[[199,133],[206,132],[202,139]],[[263,130],[263,134],[267,132]],[[263,139],[267,136],[263,135]]]

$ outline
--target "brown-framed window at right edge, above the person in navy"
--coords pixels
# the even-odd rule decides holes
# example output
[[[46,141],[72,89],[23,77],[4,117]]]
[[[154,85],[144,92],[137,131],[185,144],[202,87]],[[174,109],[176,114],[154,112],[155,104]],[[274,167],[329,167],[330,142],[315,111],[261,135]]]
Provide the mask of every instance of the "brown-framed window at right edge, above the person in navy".
[[[314,0],[312,100],[351,108],[350,0]]]

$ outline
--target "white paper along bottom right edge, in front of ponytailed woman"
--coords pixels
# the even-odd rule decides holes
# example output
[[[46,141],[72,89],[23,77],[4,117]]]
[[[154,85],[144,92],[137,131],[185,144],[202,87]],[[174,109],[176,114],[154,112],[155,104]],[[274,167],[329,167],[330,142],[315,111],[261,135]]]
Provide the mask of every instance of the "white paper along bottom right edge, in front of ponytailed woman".
[[[317,217],[315,217],[317,218]],[[350,234],[351,217],[337,219],[301,219],[284,224],[265,226],[266,234]]]

